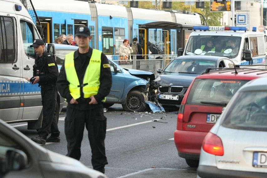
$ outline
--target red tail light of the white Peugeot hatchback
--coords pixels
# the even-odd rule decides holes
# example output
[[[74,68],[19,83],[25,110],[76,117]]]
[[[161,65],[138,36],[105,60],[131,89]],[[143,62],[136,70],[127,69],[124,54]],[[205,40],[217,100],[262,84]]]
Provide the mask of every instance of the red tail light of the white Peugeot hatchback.
[[[209,154],[223,155],[222,140],[215,134],[208,133],[202,142],[202,148]]]

